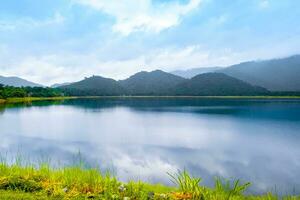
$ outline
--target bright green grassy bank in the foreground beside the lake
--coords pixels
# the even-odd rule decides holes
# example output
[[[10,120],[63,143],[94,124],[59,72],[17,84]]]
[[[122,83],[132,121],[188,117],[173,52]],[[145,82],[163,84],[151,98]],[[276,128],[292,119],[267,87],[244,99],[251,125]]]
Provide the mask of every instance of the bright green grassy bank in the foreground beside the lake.
[[[245,195],[250,183],[216,179],[215,187],[208,188],[201,185],[200,178],[193,178],[187,172],[169,176],[176,186],[134,181],[122,183],[109,173],[79,166],[53,169],[48,165],[36,168],[1,163],[0,199],[279,199],[272,194]]]

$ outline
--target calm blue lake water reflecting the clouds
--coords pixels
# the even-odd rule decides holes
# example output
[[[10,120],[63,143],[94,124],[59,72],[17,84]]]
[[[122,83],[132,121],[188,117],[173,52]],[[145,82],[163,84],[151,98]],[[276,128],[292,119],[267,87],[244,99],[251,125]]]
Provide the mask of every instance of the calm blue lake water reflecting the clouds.
[[[120,179],[171,184],[187,169],[300,194],[300,100],[103,98],[0,107],[6,159],[73,164],[79,154]]]

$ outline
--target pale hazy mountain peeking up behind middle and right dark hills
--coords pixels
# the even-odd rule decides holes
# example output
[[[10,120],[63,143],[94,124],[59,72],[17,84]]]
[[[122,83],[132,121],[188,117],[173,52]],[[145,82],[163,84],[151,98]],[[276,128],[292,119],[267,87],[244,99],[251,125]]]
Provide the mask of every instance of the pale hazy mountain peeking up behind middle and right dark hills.
[[[187,69],[187,70],[176,70],[176,71],[172,71],[170,73],[180,76],[180,77],[183,77],[183,78],[192,78],[199,74],[215,72],[220,69],[222,69],[222,67],[201,67],[201,68],[193,68],[193,69]]]

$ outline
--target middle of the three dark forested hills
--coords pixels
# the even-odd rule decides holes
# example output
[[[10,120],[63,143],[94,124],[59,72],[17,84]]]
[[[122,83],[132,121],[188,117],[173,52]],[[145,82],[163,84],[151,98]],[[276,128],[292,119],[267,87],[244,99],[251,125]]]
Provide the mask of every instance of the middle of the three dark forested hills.
[[[185,81],[184,78],[161,71],[139,72],[121,80],[119,83],[132,95],[163,95],[168,90],[179,83]]]

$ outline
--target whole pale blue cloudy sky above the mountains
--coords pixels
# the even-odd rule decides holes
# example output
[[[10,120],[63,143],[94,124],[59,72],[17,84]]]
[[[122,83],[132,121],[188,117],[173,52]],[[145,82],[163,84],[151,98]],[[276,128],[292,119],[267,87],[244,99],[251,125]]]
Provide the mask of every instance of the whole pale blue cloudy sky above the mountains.
[[[5,0],[0,75],[51,85],[300,53],[298,0]]]

